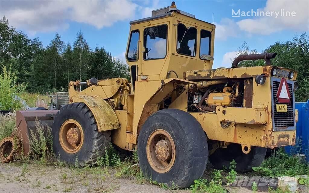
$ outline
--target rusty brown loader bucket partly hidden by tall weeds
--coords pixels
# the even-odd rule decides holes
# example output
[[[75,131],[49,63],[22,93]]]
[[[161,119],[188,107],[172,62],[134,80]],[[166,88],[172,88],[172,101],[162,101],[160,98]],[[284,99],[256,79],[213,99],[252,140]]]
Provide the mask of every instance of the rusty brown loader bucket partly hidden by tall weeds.
[[[44,129],[47,127],[51,128],[53,118],[57,112],[58,110],[16,111],[16,135],[23,144],[24,155],[27,156],[29,153],[29,138],[31,137],[30,131],[36,133],[36,118],[38,118]]]

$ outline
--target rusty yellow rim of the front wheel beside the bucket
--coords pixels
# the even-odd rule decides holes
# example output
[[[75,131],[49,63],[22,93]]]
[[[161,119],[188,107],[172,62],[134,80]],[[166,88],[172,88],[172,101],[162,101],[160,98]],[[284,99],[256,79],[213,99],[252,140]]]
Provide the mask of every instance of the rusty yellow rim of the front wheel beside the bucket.
[[[60,127],[59,141],[65,152],[78,152],[84,142],[82,126],[74,119],[66,120]]]

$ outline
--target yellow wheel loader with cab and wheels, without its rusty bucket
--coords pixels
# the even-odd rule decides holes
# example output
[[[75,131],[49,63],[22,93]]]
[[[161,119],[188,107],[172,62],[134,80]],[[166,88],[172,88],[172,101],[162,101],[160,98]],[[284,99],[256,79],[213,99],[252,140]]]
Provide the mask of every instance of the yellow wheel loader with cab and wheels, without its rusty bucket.
[[[247,172],[266,148],[295,144],[297,72],[271,65],[276,53],[241,55],[212,69],[216,26],[171,6],[130,22],[125,78],[69,83],[54,117],[53,150],[83,167],[112,143],[137,150],[147,179],[189,187],[208,159]],[[240,67],[244,60],[265,66]],[[84,89],[80,89],[84,85]]]

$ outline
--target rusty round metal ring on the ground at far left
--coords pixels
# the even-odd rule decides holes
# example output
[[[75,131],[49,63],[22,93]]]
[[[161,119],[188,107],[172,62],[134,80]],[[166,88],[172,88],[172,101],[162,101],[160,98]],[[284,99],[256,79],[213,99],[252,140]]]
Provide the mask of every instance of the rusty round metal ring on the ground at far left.
[[[0,161],[1,163],[9,163],[18,157],[22,151],[22,143],[18,137],[12,134],[0,142]]]

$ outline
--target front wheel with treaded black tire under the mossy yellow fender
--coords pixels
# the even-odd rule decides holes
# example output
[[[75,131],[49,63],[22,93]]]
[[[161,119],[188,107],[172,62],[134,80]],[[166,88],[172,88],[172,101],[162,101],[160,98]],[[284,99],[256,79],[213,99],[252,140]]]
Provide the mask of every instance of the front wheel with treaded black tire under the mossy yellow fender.
[[[78,167],[91,164],[102,156],[111,141],[111,132],[99,132],[95,118],[85,103],[64,106],[54,117],[53,150],[56,157]]]

